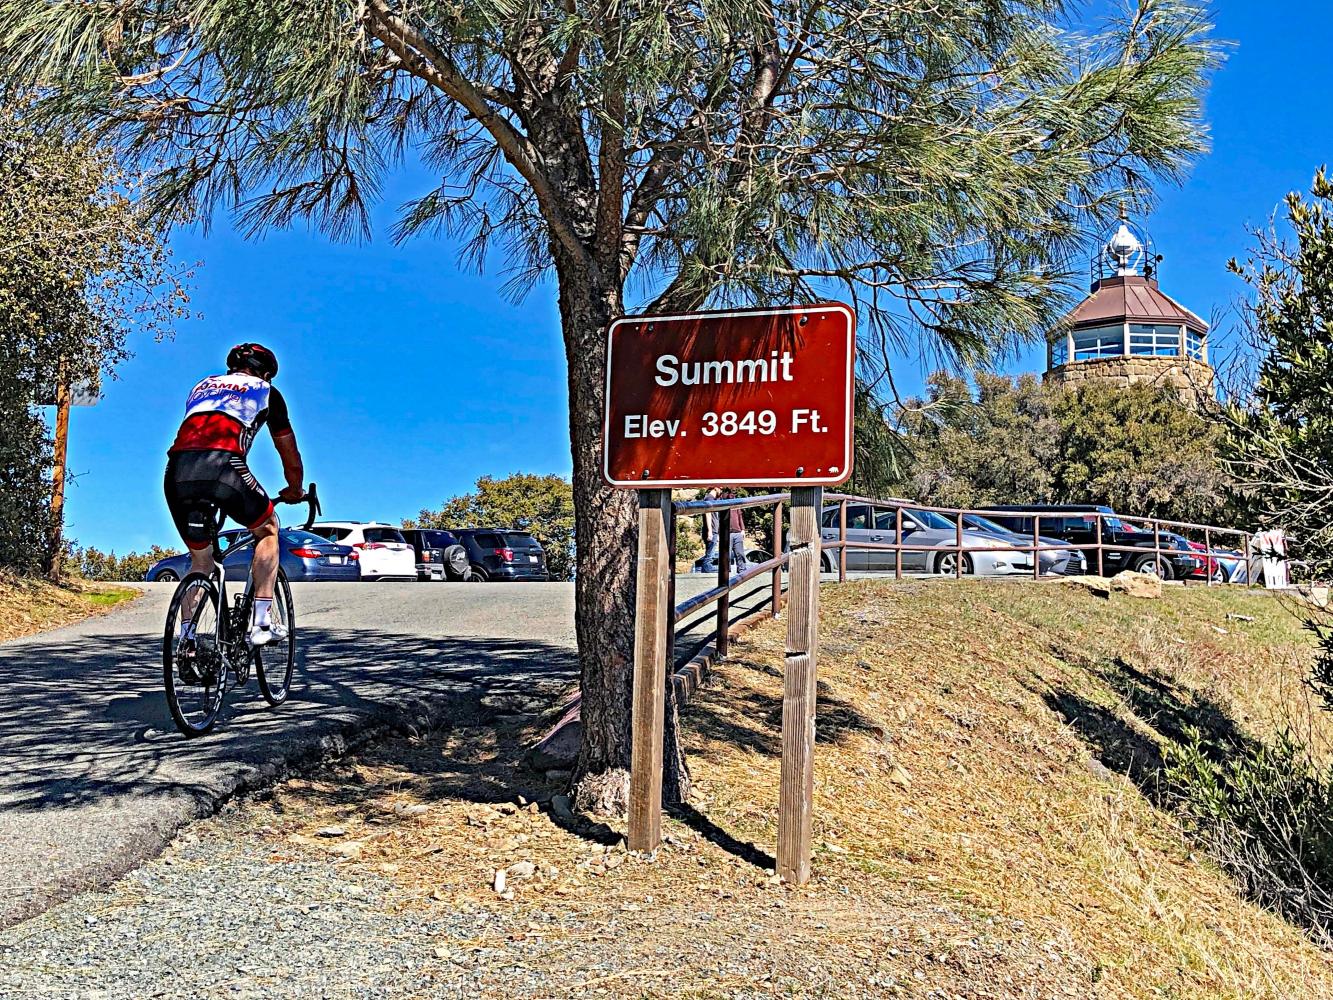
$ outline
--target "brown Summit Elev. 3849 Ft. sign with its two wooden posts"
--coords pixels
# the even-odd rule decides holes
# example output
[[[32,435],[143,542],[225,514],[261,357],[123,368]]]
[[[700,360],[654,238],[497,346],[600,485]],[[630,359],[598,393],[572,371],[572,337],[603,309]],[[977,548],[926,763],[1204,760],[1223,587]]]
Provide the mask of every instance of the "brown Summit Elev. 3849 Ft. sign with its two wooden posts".
[[[661,843],[665,701],[676,617],[670,491],[792,487],[777,872],[793,883],[810,877],[822,488],[845,483],[852,473],[854,361],[856,316],[838,303],[633,316],[611,325],[603,473],[612,487],[639,491],[632,851],[656,851]],[[729,511],[718,513],[729,516]],[[718,585],[728,587],[721,568],[729,549],[726,529],[720,535]],[[781,524],[774,524],[773,537],[781,540]],[[726,608],[724,596],[718,601],[721,655]]]

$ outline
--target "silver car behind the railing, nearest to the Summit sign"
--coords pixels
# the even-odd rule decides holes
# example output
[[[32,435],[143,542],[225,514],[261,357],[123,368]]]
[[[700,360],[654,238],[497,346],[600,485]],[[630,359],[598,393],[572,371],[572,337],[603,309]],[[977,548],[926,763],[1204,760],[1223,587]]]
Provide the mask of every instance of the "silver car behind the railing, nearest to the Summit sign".
[[[860,548],[858,541],[894,544],[897,541],[897,505],[848,504],[846,505],[846,568],[857,572],[893,572],[897,569],[898,553],[892,549]],[[933,511],[902,507],[902,544],[945,548],[956,545],[958,529],[952,519]],[[824,508],[821,537],[824,541],[838,540],[838,508]],[[964,548],[989,549],[1008,541],[1005,536],[988,531],[962,528]],[[1050,565],[1057,564],[1056,553],[1050,553]],[[821,556],[824,572],[833,572],[838,564],[837,551]],[[957,572],[957,553],[906,551],[902,553],[905,572],[942,573],[953,576]],[[1045,571],[1045,559],[1042,560]],[[1009,573],[1030,573],[1030,552],[964,552],[962,572],[981,576],[1006,576]],[[1049,571],[1048,571],[1049,572]]]

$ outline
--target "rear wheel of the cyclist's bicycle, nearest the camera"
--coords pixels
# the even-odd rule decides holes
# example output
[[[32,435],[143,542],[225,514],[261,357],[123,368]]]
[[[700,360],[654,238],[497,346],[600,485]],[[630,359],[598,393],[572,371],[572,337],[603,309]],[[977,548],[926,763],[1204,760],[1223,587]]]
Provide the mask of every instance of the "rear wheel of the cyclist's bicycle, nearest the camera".
[[[188,612],[193,608],[193,615]],[[221,648],[221,593],[212,579],[189,573],[171,599],[163,633],[163,685],[172,721],[185,736],[213,728],[223,708],[227,664]],[[192,620],[193,637],[181,635]]]

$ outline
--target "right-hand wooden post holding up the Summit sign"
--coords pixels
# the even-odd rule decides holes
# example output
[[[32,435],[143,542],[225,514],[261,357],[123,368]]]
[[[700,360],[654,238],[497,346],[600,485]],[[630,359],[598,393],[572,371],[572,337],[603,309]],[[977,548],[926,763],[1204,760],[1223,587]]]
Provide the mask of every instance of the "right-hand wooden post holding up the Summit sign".
[[[782,769],[777,805],[777,873],[810,877],[814,803],[814,697],[820,635],[821,487],[792,489],[792,561],[786,600],[786,671],[782,689]]]

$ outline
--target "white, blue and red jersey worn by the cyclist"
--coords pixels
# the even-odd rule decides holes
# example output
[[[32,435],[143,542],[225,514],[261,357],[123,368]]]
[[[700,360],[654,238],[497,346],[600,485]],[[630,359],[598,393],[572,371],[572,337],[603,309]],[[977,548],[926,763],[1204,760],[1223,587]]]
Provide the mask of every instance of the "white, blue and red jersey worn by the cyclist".
[[[185,420],[168,453],[223,451],[245,456],[265,424],[273,437],[292,433],[281,392],[245,372],[209,375],[191,389]]]

